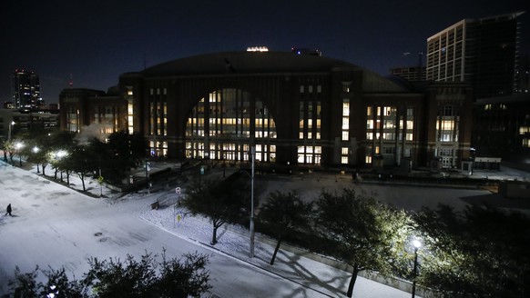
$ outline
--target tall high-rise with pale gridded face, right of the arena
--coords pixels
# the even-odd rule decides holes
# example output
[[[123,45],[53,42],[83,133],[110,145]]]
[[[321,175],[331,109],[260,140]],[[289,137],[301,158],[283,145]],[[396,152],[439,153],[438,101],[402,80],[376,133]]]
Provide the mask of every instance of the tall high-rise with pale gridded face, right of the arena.
[[[514,94],[523,14],[464,19],[429,37],[427,80],[466,82],[475,99]]]

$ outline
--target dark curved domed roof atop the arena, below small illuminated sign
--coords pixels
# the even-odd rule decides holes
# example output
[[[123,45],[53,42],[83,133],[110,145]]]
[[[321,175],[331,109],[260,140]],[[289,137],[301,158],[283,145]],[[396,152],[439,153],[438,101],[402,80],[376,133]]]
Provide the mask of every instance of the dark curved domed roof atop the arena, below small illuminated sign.
[[[181,58],[149,67],[142,74],[158,76],[330,72],[334,67],[358,68],[345,61],[316,55],[240,51]]]

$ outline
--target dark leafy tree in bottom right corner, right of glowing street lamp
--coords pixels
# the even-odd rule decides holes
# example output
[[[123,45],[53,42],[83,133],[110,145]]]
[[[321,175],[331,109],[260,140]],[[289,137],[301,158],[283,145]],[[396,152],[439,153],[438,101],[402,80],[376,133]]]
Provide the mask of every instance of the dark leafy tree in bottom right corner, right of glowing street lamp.
[[[454,297],[530,293],[530,219],[487,205],[423,209],[415,221],[428,252],[419,281]]]

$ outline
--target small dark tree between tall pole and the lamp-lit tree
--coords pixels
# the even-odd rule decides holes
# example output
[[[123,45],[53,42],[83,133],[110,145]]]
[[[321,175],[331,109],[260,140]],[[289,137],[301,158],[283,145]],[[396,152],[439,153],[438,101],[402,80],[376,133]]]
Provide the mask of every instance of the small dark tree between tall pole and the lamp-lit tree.
[[[298,194],[275,192],[269,195],[266,204],[260,208],[258,216],[259,223],[265,233],[270,233],[276,237],[278,242],[270,264],[274,264],[276,254],[280,250],[283,238],[290,233],[297,233],[300,230],[307,230],[313,204],[303,202]]]

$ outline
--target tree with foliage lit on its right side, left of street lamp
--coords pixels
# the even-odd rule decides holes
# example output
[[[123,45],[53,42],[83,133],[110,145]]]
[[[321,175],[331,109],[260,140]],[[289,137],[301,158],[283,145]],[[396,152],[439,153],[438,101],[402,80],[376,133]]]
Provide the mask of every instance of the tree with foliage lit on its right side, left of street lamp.
[[[348,297],[361,271],[392,272],[392,259],[401,257],[409,229],[407,214],[349,189],[322,192],[317,213],[324,253],[352,266]]]

